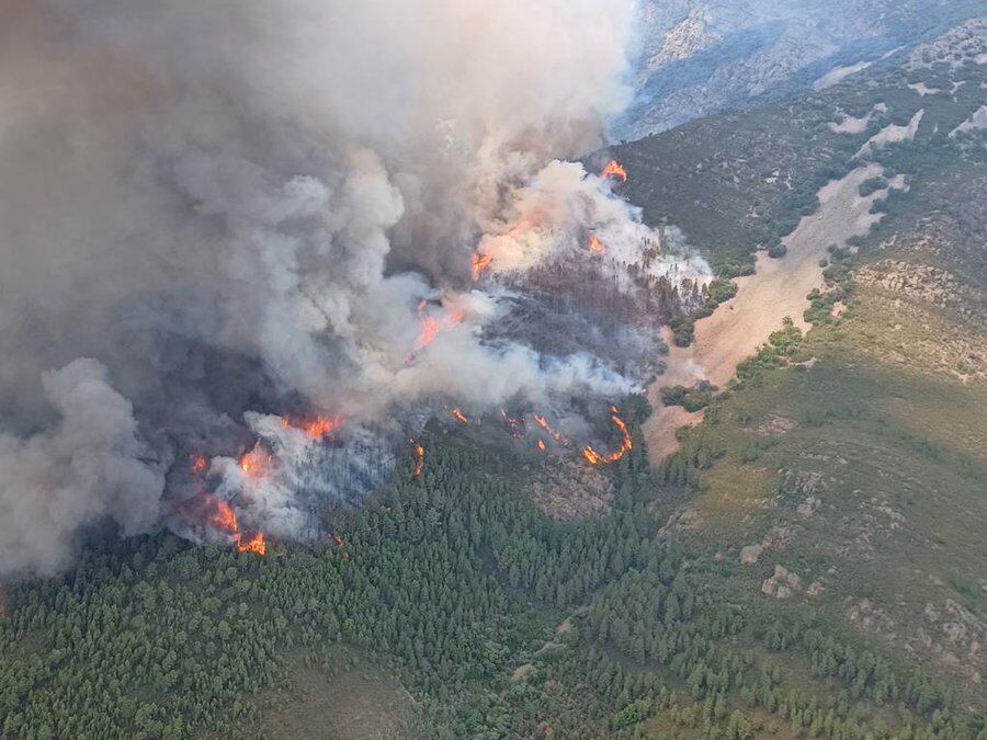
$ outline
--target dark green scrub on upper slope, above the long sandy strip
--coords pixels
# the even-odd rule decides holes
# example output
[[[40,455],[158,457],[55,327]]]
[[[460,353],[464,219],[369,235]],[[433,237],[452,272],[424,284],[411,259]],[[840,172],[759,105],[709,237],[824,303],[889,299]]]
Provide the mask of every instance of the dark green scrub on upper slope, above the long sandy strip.
[[[907,124],[924,110],[914,143],[881,148],[873,158],[886,166],[886,177],[928,181],[950,170],[953,209],[983,209],[983,197],[976,194],[983,193],[987,152],[975,141],[983,141],[984,132],[950,134],[983,104],[984,65],[966,56],[953,59],[951,67],[942,59],[956,44],[940,46],[946,50],[932,45],[926,53],[929,66],[921,66],[921,54],[915,64],[895,56],[810,95],[693,121],[614,147],[613,155],[631,175],[626,192],[644,208],[646,221],[681,227],[707,254],[717,275],[750,274],[753,253],[775,247],[802,216],[815,212],[819,189],[856,166],[853,156],[869,137],[889,123]],[[908,87],[922,81],[943,92],[923,96]],[[839,133],[830,125],[843,116],[867,115],[860,133]],[[961,148],[965,171],[957,169],[955,152]],[[917,184],[892,207],[905,210],[921,204],[927,192]],[[979,259],[983,280],[983,251]]]

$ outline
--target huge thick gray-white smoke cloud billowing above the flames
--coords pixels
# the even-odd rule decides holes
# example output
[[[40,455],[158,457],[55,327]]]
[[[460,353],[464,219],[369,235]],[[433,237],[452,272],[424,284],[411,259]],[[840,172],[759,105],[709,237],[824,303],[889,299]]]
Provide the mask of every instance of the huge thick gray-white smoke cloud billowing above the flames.
[[[0,574],[50,571],[107,514],[150,525],[162,486],[140,439],[167,460],[275,399],[359,424],[438,394],[626,389],[588,356],[485,346],[498,301],[470,265],[522,225],[492,272],[586,229],[639,238],[577,166],[525,210],[538,172],[599,146],[626,102],[633,4],[4,3]],[[427,345],[422,300],[456,316]],[[69,402],[82,369],[102,418]]]

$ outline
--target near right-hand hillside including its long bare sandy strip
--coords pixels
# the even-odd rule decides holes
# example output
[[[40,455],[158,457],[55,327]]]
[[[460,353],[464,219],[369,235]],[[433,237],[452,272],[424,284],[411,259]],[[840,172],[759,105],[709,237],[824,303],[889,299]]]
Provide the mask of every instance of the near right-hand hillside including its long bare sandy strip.
[[[901,66],[692,125],[726,146],[708,150],[714,166],[684,175],[687,186],[739,197],[750,183],[760,210],[729,209],[728,197],[728,213],[713,217],[724,234],[735,219],[747,243],[778,236],[756,230],[763,213],[791,224],[786,210],[808,183],[841,179],[795,212],[808,215],[781,238],[787,254],[759,252],[736,298],[696,323],[691,346],[672,348],[646,425],[654,458],[682,440],[665,467],[684,459],[700,470],[699,494],[672,519],[674,536],[739,563],[757,597],[810,604],[952,676],[971,697],[983,696],[987,675],[978,534],[987,517],[987,158],[984,129],[964,122],[982,104],[985,52],[987,24],[972,21]],[[638,193],[656,187],[648,163],[682,137],[669,132],[621,151]],[[752,149],[767,179],[733,153]],[[796,171],[790,157],[799,150]],[[722,249],[710,212],[668,187],[679,200],[665,213],[724,254],[721,270],[734,270],[737,244]],[[840,192],[842,203],[832,197]],[[645,201],[653,217],[660,202]],[[784,316],[794,323],[781,331]],[[702,379],[730,390],[693,412],[662,403],[662,388]],[[696,425],[677,430],[685,423]]]

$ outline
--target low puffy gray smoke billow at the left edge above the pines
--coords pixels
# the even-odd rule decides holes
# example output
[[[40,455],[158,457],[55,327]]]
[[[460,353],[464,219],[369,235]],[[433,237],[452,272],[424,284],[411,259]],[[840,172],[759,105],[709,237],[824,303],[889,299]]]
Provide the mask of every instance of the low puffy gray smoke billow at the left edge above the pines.
[[[164,460],[138,439],[129,401],[106,383],[106,368],[76,360],[42,376],[59,414],[27,439],[0,433],[2,572],[54,573],[67,565],[79,527],[115,521],[124,534],[158,519]]]

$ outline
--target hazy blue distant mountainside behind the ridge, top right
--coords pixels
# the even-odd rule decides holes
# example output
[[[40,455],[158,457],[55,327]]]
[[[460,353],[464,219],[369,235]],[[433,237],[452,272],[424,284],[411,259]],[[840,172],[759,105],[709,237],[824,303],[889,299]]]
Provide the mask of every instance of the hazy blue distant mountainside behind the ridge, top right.
[[[982,10],[966,0],[647,0],[637,98],[614,138],[835,83]]]

